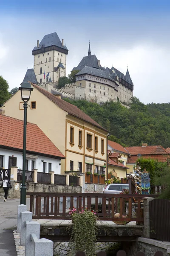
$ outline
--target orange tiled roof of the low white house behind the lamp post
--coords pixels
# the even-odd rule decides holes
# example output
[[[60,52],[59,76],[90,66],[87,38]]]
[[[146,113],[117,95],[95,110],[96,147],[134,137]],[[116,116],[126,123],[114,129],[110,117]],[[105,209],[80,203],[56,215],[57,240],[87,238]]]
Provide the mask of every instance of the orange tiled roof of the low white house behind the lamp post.
[[[0,114],[0,146],[23,150],[23,121]],[[26,151],[65,158],[35,124],[27,123]]]

